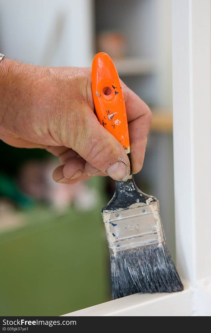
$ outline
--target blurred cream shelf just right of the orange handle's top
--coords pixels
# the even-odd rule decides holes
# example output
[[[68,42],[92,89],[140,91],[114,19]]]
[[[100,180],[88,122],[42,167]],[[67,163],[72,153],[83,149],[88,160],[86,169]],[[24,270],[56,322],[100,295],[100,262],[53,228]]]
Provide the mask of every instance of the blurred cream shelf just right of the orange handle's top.
[[[143,75],[156,71],[155,62],[142,58],[120,58],[113,59],[118,74],[121,75]]]

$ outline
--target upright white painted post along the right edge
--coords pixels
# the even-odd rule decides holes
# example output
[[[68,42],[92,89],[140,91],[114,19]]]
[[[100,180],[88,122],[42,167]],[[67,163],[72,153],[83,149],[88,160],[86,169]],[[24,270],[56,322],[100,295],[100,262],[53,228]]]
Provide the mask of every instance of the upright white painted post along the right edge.
[[[210,0],[172,2],[176,253],[193,286],[211,276]]]

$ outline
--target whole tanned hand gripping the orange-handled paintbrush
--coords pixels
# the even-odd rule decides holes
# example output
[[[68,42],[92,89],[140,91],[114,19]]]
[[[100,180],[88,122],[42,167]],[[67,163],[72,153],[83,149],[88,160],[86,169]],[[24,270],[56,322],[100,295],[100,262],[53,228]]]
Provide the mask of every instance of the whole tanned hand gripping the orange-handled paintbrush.
[[[125,180],[130,170],[120,143],[94,114],[91,69],[0,63],[0,139],[43,148],[61,163],[53,179],[73,184],[95,175]],[[132,171],[140,171],[151,124],[148,106],[123,82]]]

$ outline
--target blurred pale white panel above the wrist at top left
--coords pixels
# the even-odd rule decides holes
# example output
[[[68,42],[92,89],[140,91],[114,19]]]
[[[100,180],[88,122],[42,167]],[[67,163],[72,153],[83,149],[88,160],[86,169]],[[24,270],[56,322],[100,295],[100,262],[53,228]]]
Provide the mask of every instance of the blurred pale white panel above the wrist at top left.
[[[90,66],[93,0],[7,0],[1,3],[5,57],[44,66]]]

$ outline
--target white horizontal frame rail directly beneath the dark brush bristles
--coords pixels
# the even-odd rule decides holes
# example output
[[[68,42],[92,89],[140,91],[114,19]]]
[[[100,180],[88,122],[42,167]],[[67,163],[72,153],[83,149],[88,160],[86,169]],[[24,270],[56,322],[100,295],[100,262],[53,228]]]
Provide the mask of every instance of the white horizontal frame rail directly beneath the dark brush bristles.
[[[191,316],[192,291],[135,294],[95,305],[65,316]]]

